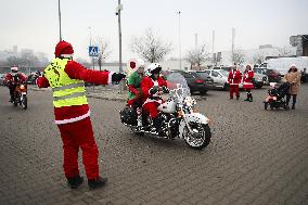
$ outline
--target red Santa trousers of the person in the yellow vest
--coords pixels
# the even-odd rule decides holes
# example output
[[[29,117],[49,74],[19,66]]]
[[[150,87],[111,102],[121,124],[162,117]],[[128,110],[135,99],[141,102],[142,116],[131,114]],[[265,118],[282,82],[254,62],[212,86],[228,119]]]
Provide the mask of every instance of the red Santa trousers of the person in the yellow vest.
[[[82,163],[89,179],[99,177],[99,150],[93,137],[90,117],[82,120],[57,125],[63,141],[64,163],[66,178],[79,176],[78,151],[82,151]]]

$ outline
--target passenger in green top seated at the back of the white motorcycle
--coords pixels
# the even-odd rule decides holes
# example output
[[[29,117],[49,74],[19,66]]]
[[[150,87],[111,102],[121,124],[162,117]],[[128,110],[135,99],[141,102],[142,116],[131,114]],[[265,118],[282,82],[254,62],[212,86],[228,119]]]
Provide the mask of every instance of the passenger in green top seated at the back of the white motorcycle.
[[[129,66],[132,68],[132,73],[128,77],[128,100],[127,104],[136,107],[141,107],[142,105],[142,92],[140,84],[144,77],[144,61],[138,59],[137,61],[130,61]]]

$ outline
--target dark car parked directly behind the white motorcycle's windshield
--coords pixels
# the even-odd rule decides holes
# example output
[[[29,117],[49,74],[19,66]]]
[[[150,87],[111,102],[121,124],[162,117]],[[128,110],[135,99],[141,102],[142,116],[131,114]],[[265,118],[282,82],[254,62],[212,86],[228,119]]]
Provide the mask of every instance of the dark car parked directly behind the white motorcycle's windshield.
[[[206,92],[214,87],[214,80],[205,72],[195,71],[175,71],[180,73],[187,80],[191,92],[198,91],[201,94]]]

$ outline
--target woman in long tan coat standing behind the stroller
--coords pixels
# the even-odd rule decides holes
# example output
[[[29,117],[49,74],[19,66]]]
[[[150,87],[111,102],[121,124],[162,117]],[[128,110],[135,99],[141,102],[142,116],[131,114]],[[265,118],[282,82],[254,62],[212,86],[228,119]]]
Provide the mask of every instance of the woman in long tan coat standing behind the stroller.
[[[288,102],[292,95],[292,110],[295,110],[296,97],[299,92],[300,87],[300,74],[297,71],[295,64],[291,65],[288,72],[283,77],[283,81],[290,82],[291,85],[288,93],[286,94],[286,105],[288,106]]]

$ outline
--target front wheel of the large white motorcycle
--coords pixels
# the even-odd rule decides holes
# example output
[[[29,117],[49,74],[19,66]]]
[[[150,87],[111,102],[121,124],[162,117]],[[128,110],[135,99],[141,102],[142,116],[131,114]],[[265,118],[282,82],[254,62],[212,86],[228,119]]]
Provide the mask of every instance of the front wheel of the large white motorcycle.
[[[189,123],[189,125],[194,133],[190,133],[188,127],[184,127],[183,138],[187,144],[195,150],[202,150],[206,148],[209,144],[211,138],[209,126],[197,123]]]

